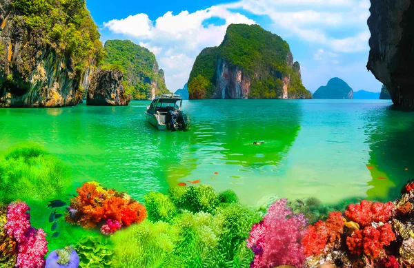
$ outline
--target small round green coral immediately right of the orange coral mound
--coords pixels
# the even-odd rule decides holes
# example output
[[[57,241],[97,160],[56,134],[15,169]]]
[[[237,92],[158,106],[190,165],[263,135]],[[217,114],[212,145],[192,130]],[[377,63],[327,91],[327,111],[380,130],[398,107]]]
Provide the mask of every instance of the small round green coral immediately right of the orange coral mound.
[[[144,200],[149,220],[169,223],[177,214],[174,203],[164,194],[150,192],[144,196]]]

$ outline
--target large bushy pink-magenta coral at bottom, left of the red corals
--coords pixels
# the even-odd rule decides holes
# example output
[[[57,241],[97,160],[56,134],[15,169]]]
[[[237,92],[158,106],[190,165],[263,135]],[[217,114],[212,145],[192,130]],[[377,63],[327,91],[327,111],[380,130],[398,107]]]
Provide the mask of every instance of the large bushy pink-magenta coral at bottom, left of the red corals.
[[[293,265],[300,267],[304,249],[300,243],[307,220],[303,214],[293,214],[286,207],[288,200],[271,205],[262,222],[253,225],[247,246],[255,253],[252,268]]]

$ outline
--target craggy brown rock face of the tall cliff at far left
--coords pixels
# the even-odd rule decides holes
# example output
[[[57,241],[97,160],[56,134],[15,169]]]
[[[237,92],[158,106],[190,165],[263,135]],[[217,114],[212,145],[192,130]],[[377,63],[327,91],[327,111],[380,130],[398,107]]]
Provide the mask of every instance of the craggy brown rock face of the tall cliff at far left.
[[[48,14],[34,13],[25,6],[31,3],[19,1],[14,6],[16,0],[0,0],[0,107],[76,105],[83,96],[80,85],[86,74],[85,66],[93,65],[97,50],[83,50],[84,57],[75,59],[75,52],[62,48],[64,41],[52,39],[52,34],[46,32],[43,25],[32,24],[30,19]],[[55,5],[55,16],[63,18],[59,13],[63,7],[58,2]],[[45,10],[50,11],[48,8]],[[86,7],[83,3],[72,12],[80,14],[84,10]],[[89,14],[84,19],[95,25]],[[66,29],[64,27],[70,20],[65,17],[59,22],[61,24],[55,22],[55,28],[59,25],[60,30]],[[79,29],[81,26],[76,27],[74,31],[84,34],[91,34],[89,30],[92,29],[97,37],[93,40],[90,37],[88,41],[99,42],[99,33],[93,26],[83,30]],[[75,45],[74,50],[76,48]]]

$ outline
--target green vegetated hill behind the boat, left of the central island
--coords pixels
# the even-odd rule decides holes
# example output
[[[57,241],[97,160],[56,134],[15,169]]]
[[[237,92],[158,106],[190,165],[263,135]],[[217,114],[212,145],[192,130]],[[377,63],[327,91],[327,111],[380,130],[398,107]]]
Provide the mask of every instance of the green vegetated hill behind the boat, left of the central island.
[[[124,74],[124,87],[132,99],[151,99],[155,95],[168,94],[164,71],[159,70],[155,55],[146,48],[129,40],[108,40],[107,56],[102,68],[120,70]]]

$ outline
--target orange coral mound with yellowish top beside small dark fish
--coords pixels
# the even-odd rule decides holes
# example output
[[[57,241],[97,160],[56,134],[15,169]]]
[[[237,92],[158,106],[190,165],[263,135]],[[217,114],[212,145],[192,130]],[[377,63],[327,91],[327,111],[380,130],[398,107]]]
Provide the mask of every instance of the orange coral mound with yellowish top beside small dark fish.
[[[101,225],[103,234],[112,234],[119,225],[141,223],[147,216],[146,208],[128,194],[103,188],[99,183],[84,183],[78,195],[70,200],[66,221],[84,228]]]

